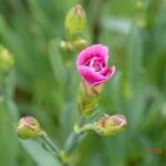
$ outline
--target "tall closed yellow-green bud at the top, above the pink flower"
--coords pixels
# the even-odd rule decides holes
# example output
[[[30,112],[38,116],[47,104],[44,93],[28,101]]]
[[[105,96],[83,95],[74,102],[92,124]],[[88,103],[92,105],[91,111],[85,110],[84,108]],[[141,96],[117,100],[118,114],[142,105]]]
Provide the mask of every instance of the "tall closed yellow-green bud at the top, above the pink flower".
[[[70,39],[75,40],[80,38],[85,30],[85,11],[80,4],[76,4],[69,11],[65,18],[65,29]]]

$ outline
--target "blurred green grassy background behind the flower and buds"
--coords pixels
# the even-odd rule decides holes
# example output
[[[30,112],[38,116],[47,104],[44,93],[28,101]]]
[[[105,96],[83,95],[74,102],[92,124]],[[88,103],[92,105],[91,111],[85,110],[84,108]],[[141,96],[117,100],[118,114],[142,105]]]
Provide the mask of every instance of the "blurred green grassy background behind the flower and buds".
[[[116,66],[100,110],[125,115],[128,126],[115,137],[89,134],[72,165],[166,165],[166,0],[0,0],[0,43],[14,55],[0,94],[0,165],[60,165],[37,142],[19,141],[15,125],[33,115],[62,146],[76,122],[77,53],[69,80],[59,49],[76,3],[86,11],[90,44],[108,45]]]

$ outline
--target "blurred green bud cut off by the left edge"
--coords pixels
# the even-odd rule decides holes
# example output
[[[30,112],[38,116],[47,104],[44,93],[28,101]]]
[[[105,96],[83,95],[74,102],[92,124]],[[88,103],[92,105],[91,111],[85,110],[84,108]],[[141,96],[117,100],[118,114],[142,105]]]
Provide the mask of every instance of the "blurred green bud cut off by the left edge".
[[[13,56],[9,51],[0,45],[0,72],[7,72],[13,65]]]

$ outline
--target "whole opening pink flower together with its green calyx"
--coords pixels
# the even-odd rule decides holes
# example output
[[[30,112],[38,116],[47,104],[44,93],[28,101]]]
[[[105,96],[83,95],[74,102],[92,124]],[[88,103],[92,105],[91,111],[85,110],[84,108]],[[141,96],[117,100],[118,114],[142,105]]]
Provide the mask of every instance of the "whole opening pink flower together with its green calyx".
[[[79,107],[84,116],[93,112],[104,83],[115,73],[115,66],[107,66],[107,62],[108,48],[102,44],[87,46],[77,55],[76,68],[82,77]]]

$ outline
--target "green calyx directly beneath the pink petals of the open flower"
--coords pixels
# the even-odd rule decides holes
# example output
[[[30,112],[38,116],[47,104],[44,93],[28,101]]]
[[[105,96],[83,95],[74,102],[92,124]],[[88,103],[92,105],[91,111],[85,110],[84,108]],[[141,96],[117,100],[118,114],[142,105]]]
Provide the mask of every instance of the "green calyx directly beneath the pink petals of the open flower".
[[[83,116],[90,116],[94,113],[95,107],[98,104],[103,84],[90,86],[83,80],[80,85],[79,94],[79,110]]]

